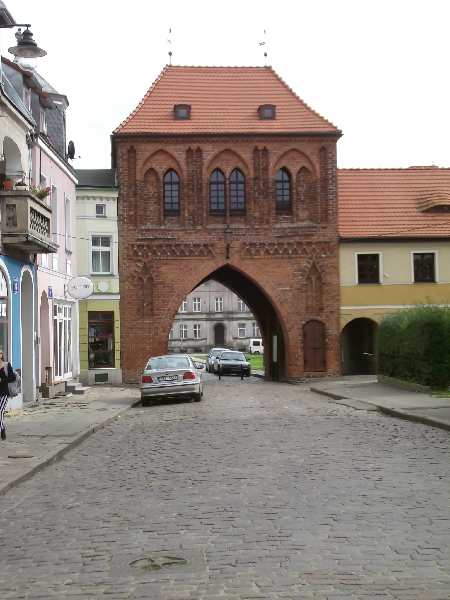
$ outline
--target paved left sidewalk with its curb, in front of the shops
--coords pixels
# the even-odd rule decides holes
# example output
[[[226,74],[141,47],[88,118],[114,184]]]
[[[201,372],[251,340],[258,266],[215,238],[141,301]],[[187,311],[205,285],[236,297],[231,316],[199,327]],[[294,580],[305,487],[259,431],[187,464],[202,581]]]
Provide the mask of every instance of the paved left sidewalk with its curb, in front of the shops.
[[[5,417],[0,496],[139,402],[137,386],[93,386],[89,395],[49,398],[29,404],[20,415]]]

